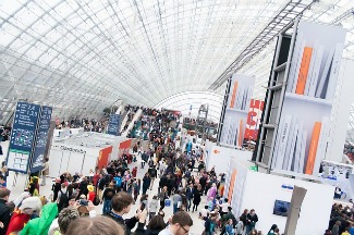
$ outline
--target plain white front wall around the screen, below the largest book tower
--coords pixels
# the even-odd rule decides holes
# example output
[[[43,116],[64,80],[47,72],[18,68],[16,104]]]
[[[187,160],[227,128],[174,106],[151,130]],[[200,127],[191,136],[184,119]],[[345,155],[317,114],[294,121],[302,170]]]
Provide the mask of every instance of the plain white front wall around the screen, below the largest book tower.
[[[259,219],[256,228],[268,232],[272,224],[277,224],[284,232],[286,217],[272,214],[276,200],[291,201],[292,190],[283,189],[282,185],[296,185],[307,189],[296,234],[324,234],[330,219],[334,187],[248,171],[242,207],[256,210]]]

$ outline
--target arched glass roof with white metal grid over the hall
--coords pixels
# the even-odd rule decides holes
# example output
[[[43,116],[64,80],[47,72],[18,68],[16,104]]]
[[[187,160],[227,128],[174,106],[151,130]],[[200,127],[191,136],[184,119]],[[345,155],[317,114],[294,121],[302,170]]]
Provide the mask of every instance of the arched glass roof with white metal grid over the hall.
[[[101,113],[117,99],[154,107],[206,91],[297,1],[1,0],[0,122],[19,99],[69,118]],[[353,0],[315,1],[303,18],[342,24],[350,30],[344,54],[353,58]],[[255,98],[264,97],[273,48],[271,41],[240,71],[257,77]],[[223,95],[224,86],[211,91]]]

